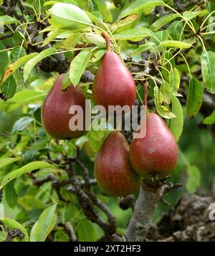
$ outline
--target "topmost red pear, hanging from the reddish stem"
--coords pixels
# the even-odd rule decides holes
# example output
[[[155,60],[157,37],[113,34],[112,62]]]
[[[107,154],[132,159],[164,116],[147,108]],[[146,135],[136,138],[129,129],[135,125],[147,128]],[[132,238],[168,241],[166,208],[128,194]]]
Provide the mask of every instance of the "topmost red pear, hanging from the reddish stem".
[[[92,98],[96,105],[132,106],[136,88],[132,75],[115,52],[106,52],[92,85]]]

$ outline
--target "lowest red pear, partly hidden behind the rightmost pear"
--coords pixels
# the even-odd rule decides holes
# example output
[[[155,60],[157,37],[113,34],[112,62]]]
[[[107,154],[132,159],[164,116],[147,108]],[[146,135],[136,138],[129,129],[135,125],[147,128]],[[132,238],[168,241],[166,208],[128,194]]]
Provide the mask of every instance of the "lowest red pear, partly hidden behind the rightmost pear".
[[[95,177],[102,191],[109,196],[128,196],[140,187],[140,176],[129,161],[125,137],[113,131],[102,144],[95,160]]]

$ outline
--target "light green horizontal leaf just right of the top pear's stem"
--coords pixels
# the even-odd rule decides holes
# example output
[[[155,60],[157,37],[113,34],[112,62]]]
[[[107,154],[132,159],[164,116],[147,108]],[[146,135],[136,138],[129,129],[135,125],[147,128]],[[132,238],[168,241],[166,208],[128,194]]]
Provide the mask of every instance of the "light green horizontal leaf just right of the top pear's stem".
[[[140,39],[143,39],[143,37],[152,37],[153,32],[145,27],[138,27],[135,29],[125,30],[119,34],[114,34],[113,36],[116,40],[132,39],[133,41],[139,41]]]

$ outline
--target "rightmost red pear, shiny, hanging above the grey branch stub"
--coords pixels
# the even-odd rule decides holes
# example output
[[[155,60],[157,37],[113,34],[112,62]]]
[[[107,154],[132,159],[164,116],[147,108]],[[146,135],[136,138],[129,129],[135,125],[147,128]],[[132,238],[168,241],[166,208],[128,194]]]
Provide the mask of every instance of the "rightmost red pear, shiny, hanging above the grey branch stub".
[[[178,146],[173,134],[159,115],[148,113],[145,120],[145,137],[134,137],[130,143],[130,162],[144,179],[149,179],[152,172],[164,178],[176,166]]]

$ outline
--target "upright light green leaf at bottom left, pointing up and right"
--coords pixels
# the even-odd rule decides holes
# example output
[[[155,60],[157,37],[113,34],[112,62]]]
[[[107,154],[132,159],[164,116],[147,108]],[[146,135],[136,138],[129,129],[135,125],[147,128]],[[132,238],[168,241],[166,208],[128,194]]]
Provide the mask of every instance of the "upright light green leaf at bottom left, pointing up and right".
[[[57,221],[57,215],[54,214],[56,207],[57,204],[54,204],[44,209],[38,221],[32,227],[30,242],[44,242],[47,239]]]

